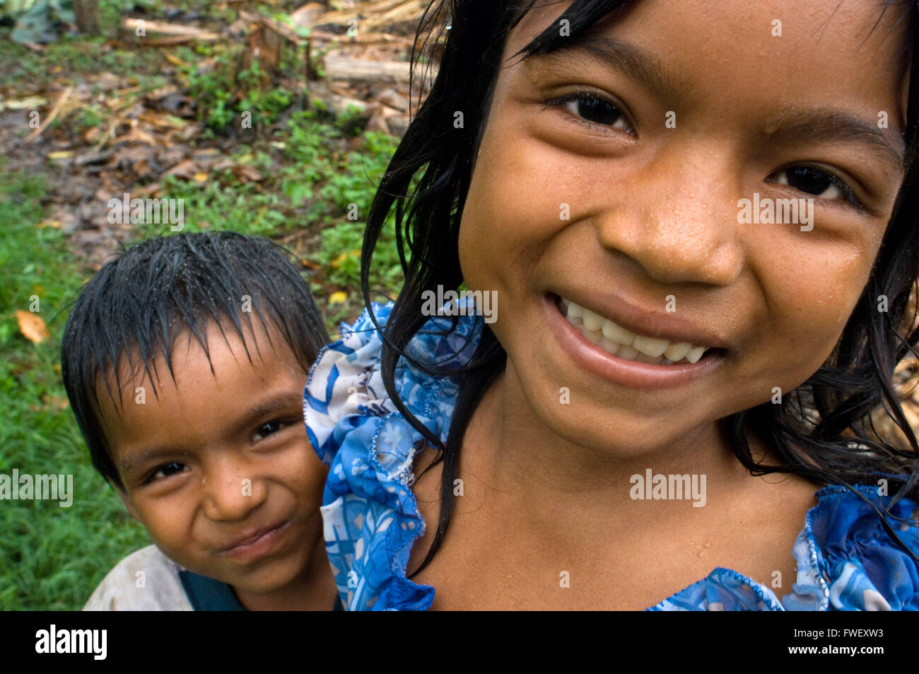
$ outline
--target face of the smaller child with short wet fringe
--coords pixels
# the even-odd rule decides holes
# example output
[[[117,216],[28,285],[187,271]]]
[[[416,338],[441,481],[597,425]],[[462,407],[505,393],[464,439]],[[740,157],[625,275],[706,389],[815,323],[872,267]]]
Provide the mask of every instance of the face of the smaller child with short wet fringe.
[[[103,392],[103,419],[122,498],[153,543],[241,596],[268,594],[300,582],[321,541],[326,469],[303,427],[306,374],[287,344],[273,333],[269,345],[256,325],[250,362],[233,328],[226,334],[229,343],[210,326],[210,362],[179,337],[176,381],[158,359],[158,395],[138,379],[117,414]]]

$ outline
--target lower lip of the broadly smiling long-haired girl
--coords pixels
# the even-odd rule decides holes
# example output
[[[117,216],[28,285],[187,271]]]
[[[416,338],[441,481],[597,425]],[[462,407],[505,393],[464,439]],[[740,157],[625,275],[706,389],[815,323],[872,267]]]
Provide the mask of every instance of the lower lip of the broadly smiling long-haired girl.
[[[618,358],[587,341],[581,331],[562,315],[553,296],[546,297],[544,304],[546,320],[562,350],[579,367],[610,382],[641,390],[675,388],[709,374],[724,360],[720,352],[707,353],[698,362],[680,365],[658,365]]]

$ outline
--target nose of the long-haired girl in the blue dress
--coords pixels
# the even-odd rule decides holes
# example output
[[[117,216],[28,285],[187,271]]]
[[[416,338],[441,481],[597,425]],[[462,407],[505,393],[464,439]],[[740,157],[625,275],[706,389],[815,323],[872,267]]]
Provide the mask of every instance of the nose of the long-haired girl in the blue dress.
[[[743,267],[730,162],[710,146],[672,143],[616,187],[620,196],[597,220],[600,243],[661,283],[728,285]]]

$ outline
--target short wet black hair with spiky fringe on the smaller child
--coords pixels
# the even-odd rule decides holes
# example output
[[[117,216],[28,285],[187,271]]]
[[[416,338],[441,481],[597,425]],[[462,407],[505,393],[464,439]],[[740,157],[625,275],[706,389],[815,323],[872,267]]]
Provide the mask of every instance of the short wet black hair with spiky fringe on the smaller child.
[[[99,394],[104,386],[113,403],[123,404],[121,363],[130,368],[129,385],[142,369],[155,394],[156,358],[165,358],[175,380],[173,348],[188,335],[210,361],[207,329],[214,324],[224,338],[227,329],[235,331],[251,361],[244,333],[251,336],[255,314],[269,340],[273,326],[309,371],[329,336],[306,281],[286,256],[259,236],[173,234],[130,247],[85,284],[64,326],[61,372],[93,465],[109,484],[124,488],[101,423]]]

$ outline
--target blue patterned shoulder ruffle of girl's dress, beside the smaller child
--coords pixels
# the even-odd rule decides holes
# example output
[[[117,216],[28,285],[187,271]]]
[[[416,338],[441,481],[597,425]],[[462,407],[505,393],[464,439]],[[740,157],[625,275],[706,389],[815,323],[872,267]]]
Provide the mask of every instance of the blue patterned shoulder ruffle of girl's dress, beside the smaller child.
[[[380,327],[391,308],[391,303],[372,305]],[[482,319],[462,318],[445,335],[451,325],[449,318],[432,318],[406,353],[429,367],[461,367],[475,351]],[[341,340],[320,352],[303,395],[310,441],[330,466],[323,521],[335,583],[348,611],[424,611],[434,600],[434,588],[405,577],[412,543],[425,531],[411,490],[414,454],[424,438],[386,393],[382,340],[369,313],[365,310],[353,326],[343,325],[341,333]],[[433,376],[401,357],[394,383],[414,417],[446,441],[457,378]]]

